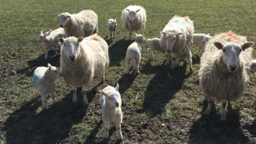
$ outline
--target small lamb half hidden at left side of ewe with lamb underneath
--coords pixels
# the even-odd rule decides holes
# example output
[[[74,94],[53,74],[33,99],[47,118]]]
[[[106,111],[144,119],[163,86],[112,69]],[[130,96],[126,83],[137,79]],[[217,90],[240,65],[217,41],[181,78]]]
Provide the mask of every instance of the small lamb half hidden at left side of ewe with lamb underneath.
[[[165,50],[163,50],[160,46],[160,38],[148,38],[147,41],[149,42],[149,48],[147,49],[149,60],[154,60],[154,51],[165,53]]]

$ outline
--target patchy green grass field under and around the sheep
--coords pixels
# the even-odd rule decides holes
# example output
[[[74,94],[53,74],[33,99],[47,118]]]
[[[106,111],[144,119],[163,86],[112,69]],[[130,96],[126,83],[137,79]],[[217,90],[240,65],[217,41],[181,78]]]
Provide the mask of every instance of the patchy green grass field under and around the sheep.
[[[256,42],[255,0],[246,1],[26,1],[1,0],[0,4],[0,143],[102,143],[103,123],[98,103],[99,90],[119,83],[124,113],[123,143],[256,143],[256,76],[250,74],[244,97],[227,111],[227,123],[220,122],[220,103],[210,116],[202,116],[207,107],[198,86],[199,57],[193,58],[194,73],[183,62],[177,70],[161,66],[164,55],[155,52],[148,62],[142,45],[141,74],[122,76],[125,52],[131,42],[124,38],[121,13],[130,4],[147,11],[146,38],[159,37],[173,15],[189,15],[195,33],[211,35],[234,31]],[[81,87],[78,100],[71,103],[71,86],[57,79],[57,103],[42,110],[41,97],[33,85],[34,70],[39,66],[60,67],[60,57],[44,59],[44,45],[38,44],[41,30],[59,27],[58,14],[91,9],[98,14],[99,35],[106,36],[109,18],[118,22],[115,40],[109,44],[110,66],[106,82],[95,78],[87,92],[89,107],[82,106]],[[139,33],[141,33],[139,31]],[[133,35],[134,38],[134,35]],[[255,45],[253,46],[255,47]],[[195,53],[196,47],[192,47]],[[60,51],[58,49],[58,51]],[[202,53],[201,53],[202,55]],[[256,57],[254,50],[253,56]],[[115,143],[117,133],[110,125],[108,143]]]

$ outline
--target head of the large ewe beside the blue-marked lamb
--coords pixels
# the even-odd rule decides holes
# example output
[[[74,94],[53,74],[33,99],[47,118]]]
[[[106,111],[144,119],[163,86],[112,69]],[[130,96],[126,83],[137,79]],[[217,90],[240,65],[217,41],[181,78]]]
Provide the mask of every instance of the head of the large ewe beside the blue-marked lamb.
[[[70,61],[76,61],[79,53],[80,53],[80,46],[79,43],[83,41],[84,37],[68,37],[68,38],[59,38],[58,41],[61,43],[61,49],[64,51],[65,55]]]

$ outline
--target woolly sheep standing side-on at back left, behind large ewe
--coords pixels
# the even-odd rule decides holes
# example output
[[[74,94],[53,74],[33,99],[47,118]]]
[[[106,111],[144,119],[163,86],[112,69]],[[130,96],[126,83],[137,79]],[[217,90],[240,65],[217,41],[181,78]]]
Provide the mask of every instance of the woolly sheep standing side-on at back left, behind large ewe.
[[[64,28],[67,37],[87,37],[98,33],[98,16],[92,10],[83,10],[76,14],[65,12],[58,17],[60,27]]]

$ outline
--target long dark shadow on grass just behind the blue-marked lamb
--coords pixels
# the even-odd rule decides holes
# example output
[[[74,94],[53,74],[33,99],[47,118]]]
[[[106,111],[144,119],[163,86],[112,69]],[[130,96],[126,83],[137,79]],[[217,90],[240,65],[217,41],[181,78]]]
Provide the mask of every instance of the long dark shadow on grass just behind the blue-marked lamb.
[[[39,55],[39,57],[37,57],[36,59],[27,61],[28,67],[18,70],[17,74],[26,74],[28,76],[32,76],[34,70],[37,67],[47,67],[47,63],[50,63],[54,67],[60,66],[60,54],[51,58],[51,56],[55,55],[55,53],[53,52],[53,50],[50,50],[47,59],[44,59],[44,55],[45,54],[43,53]]]

